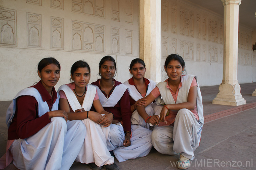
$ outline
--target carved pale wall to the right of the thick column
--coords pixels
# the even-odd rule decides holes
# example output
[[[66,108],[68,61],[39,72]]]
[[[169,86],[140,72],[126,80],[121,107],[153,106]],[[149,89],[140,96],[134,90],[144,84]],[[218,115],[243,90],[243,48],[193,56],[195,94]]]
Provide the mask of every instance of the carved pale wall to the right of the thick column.
[[[242,2],[243,3],[243,2]],[[223,16],[188,1],[162,0],[162,68],[171,53],[181,55],[187,74],[197,75],[199,85],[219,85],[223,79]],[[239,27],[238,82],[256,81],[253,29]],[[166,74],[162,72],[162,80]],[[245,76],[246,74],[246,76]]]

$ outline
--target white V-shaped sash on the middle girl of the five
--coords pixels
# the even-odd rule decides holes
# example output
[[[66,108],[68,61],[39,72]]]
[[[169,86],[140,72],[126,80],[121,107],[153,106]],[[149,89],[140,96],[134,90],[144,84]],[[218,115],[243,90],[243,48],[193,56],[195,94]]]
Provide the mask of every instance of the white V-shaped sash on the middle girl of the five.
[[[128,88],[124,84],[119,84],[115,86],[112,94],[107,99],[98,86],[96,85],[93,85],[93,86],[95,86],[98,91],[100,103],[103,107],[114,107],[124,95],[125,90]]]

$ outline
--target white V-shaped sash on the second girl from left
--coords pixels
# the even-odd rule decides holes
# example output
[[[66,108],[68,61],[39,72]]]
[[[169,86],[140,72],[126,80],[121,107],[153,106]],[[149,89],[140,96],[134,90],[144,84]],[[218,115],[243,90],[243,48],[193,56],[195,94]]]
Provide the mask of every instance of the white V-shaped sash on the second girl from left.
[[[96,88],[93,85],[90,85],[90,84],[86,85],[86,93],[84,96],[82,106],[77,100],[73,90],[69,86],[67,86],[66,84],[63,84],[59,87],[58,92],[60,90],[63,90],[65,92],[69,105],[74,112],[76,109],[84,108],[85,111],[89,111],[91,109],[91,106],[93,105],[94,97],[96,95]]]

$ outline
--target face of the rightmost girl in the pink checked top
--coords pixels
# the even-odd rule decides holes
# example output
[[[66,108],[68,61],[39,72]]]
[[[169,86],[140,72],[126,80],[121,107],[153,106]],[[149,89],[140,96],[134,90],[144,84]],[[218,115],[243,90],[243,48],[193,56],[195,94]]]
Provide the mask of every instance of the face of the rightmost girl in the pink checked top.
[[[167,67],[165,66],[165,71],[169,77],[169,81],[180,81],[183,70],[184,67],[182,68],[181,63],[177,60],[171,60]]]

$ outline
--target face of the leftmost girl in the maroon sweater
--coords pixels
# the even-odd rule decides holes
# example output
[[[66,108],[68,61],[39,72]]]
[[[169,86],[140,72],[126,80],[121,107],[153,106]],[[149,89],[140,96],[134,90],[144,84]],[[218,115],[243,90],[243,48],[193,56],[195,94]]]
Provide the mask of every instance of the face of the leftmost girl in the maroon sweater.
[[[38,75],[41,78],[41,82],[47,91],[51,91],[52,88],[58,83],[60,78],[60,69],[55,64],[49,64],[45,66],[41,72],[38,70]]]

